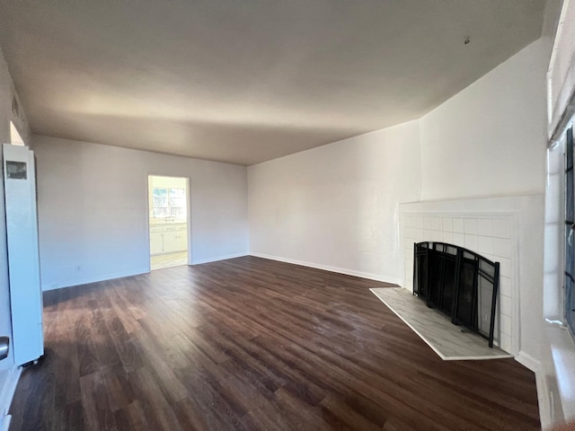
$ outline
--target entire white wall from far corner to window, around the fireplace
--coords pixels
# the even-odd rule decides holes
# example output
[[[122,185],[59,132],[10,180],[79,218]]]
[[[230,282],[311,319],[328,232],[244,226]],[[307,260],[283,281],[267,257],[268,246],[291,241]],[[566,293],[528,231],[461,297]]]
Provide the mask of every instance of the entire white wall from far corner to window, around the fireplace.
[[[249,168],[252,253],[401,283],[398,204],[491,198],[482,210],[496,213],[509,199],[493,198],[531,197],[516,198],[529,205],[514,211],[520,350],[535,368],[544,345],[548,49],[535,41],[419,121]]]

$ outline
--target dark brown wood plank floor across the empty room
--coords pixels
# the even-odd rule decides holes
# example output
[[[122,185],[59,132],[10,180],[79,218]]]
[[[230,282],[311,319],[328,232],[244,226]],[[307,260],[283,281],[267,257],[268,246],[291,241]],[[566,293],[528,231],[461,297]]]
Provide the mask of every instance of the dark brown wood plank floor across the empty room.
[[[539,429],[533,373],[442,361],[382,286],[245,257],[47,292],[11,430]]]

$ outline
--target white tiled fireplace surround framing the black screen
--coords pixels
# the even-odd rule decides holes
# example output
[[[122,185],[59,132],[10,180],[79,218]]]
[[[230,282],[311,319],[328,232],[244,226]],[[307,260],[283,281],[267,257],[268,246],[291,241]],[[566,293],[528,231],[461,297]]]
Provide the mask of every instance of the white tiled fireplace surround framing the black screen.
[[[413,243],[448,242],[500,262],[499,346],[532,370],[543,333],[544,195],[399,205],[403,286],[413,286]]]

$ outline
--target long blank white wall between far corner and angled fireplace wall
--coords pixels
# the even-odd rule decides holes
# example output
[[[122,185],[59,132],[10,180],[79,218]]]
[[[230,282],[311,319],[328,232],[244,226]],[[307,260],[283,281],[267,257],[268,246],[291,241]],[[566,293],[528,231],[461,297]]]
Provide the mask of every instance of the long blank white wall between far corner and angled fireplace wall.
[[[248,168],[252,254],[397,282],[397,204],[420,198],[417,121]]]

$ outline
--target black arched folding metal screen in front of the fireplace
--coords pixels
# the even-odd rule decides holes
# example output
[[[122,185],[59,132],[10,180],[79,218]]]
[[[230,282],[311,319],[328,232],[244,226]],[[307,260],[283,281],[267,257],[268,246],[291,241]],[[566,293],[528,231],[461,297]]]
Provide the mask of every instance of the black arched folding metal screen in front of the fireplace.
[[[413,294],[493,347],[499,262],[444,242],[415,244]]]

